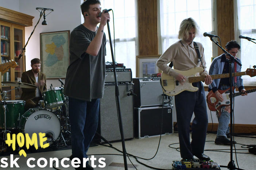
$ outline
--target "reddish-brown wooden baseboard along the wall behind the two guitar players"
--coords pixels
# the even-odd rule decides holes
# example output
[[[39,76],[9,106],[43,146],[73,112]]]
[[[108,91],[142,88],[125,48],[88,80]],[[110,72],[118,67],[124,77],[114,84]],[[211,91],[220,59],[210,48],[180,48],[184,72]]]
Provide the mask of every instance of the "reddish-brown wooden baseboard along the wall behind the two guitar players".
[[[173,122],[174,131],[177,131],[177,122]],[[190,123],[190,126],[192,123]],[[209,123],[207,127],[207,131],[215,131],[217,132],[218,124],[217,123]],[[244,133],[244,134],[256,134],[256,125],[251,124],[234,124],[234,133]]]

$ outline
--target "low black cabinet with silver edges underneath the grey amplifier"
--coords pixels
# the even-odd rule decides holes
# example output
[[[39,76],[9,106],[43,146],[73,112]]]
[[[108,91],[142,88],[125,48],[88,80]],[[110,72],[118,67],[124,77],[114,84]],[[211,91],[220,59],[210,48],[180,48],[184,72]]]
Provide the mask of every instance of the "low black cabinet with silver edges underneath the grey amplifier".
[[[162,124],[162,134],[172,133],[172,106],[134,108],[136,138],[160,135]]]

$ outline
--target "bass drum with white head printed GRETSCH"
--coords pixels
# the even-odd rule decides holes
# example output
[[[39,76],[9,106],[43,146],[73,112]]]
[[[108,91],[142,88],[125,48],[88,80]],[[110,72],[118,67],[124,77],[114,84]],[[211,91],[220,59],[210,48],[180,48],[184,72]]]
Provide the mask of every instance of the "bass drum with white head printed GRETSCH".
[[[54,140],[58,139],[61,133],[61,123],[58,116],[55,113],[42,108],[29,109],[24,113],[20,118],[19,128],[23,133],[28,133],[30,138],[33,133],[36,133],[37,136],[39,132],[45,133],[47,141],[43,142],[43,144],[50,143],[50,145]],[[37,139],[38,147],[41,147],[39,137]]]

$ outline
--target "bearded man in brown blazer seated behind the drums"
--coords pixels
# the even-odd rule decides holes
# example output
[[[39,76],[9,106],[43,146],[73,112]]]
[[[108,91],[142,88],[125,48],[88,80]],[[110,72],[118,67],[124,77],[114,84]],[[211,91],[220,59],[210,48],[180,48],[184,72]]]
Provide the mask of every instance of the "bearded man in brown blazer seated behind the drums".
[[[21,81],[37,86],[34,89],[22,88],[21,100],[25,100],[25,110],[36,108],[39,100],[43,100],[42,93],[46,90],[46,76],[40,72],[41,61],[38,58],[31,60],[31,70],[22,73]]]

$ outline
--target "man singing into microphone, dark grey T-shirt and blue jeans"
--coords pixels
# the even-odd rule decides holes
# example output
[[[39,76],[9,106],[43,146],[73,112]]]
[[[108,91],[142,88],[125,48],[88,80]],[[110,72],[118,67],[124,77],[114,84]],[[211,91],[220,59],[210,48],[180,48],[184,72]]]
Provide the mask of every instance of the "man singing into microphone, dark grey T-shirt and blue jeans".
[[[70,34],[70,64],[67,68],[64,94],[69,96],[71,125],[71,158],[88,158],[87,151],[98,126],[100,98],[105,82],[106,36],[104,27],[110,19],[108,12],[101,13],[98,0],[81,4],[84,23]],[[100,16],[101,14],[101,16]],[[100,23],[99,27],[97,24]],[[88,162],[86,168],[93,169]]]

